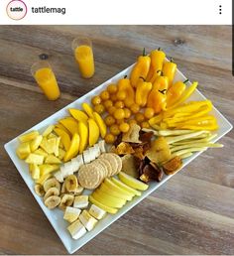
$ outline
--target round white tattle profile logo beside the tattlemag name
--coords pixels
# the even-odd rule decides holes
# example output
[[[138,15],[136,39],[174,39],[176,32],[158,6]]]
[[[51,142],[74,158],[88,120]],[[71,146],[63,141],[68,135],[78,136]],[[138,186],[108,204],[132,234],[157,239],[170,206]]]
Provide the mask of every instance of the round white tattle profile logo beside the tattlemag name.
[[[27,14],[27,6],[22,0],[12,0],[7,5],[7,15],[12,20],[21,20]]]

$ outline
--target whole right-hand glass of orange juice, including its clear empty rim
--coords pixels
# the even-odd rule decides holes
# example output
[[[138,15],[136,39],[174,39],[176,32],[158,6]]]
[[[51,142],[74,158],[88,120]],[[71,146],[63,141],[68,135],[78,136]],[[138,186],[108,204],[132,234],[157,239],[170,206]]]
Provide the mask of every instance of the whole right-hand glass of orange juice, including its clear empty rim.
[[[83,78],[90,78],[94,74],[94,60],[92,42],[87,38],[76,38],[72,41],[71,48]]]

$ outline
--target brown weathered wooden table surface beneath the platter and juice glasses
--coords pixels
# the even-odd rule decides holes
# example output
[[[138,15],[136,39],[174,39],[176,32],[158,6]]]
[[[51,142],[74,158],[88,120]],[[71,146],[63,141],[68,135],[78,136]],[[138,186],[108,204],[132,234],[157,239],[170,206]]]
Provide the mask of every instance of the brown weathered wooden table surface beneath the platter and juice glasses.
[[[80,78],[70,43],[92,39],[96,74]],[[231,26],[1,26],[0,141],[9,140],[133,64],[143,48],[163,48],[234,123]],[[48,54],[62,95],[48,101],[30,73]],[[234,254],[234,133],[220,140],[76,254]],[[0,253],[66,254],[58,235],[3,147]]]

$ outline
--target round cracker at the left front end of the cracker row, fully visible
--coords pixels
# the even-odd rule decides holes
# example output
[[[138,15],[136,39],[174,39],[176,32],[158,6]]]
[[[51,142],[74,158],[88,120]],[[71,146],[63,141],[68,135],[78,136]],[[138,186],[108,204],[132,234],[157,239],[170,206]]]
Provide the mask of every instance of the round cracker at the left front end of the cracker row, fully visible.
[[[91,167],[90,165],[82,165],[79,168],[77,178],[81,187],[88,190],[96,189],[101,181],[100,172],[94,165],[91,165]]]

